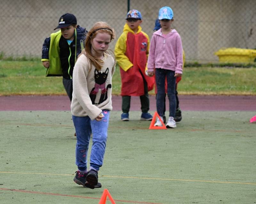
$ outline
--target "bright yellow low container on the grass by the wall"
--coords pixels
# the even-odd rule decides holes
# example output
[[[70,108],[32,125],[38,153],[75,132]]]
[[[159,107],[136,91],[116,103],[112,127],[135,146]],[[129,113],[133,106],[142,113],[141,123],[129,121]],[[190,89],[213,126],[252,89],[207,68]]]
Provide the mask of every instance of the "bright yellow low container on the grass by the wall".
[[[221,48],[214,53],[219,57],[220,62],[250,63],[256,58],[256,50],[242,48]]]

